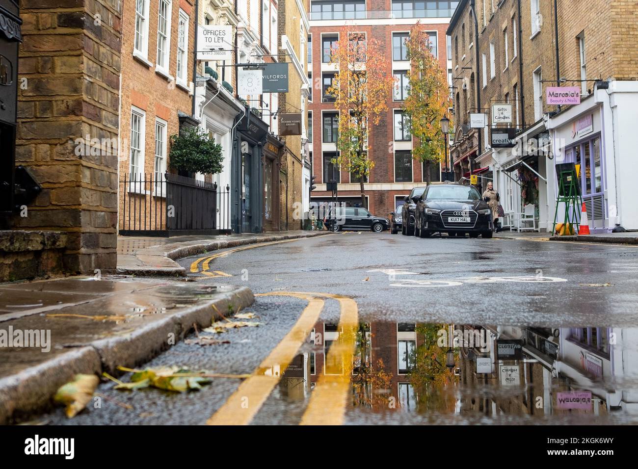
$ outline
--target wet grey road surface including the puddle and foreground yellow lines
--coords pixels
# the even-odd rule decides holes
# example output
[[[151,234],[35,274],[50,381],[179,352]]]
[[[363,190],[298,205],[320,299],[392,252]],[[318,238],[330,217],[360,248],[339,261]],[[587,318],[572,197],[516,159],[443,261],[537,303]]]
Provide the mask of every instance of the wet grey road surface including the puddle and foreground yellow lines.
[[[139,368],[253,376],[181,394],[107,382],[101,407],[38,419],[638,422],[637,248],[346,232],[180,264],[198,283],[248,285],[260,325],[214,335],[228,343],[177,343]]]

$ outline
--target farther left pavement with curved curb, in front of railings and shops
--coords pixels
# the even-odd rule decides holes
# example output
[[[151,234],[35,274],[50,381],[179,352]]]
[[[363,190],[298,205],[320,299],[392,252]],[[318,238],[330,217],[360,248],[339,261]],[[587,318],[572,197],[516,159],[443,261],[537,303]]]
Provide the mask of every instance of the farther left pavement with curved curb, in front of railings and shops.
[[[117,273],[136,276],[185,276],[175,259],[256,242],[320,235],[320,231],[291,230],[264,234],[218,236],[117,237]]]

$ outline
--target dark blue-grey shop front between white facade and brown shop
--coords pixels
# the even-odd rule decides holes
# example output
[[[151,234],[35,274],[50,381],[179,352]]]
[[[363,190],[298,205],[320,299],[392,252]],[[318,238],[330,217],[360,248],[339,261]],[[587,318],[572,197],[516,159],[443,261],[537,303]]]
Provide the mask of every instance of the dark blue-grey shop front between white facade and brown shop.
[[[237,117],[231,172],[231,225],[234,233],[263,231],[263,175],[268,124],[246,112]]]

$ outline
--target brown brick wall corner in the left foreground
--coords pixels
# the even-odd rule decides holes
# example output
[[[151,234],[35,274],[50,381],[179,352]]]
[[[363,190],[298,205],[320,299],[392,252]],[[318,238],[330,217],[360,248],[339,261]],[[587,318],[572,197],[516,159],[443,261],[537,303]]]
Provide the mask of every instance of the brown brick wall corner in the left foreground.
[[[16,164],[43,191],[15,218],[27,230],[67,232],[64,269],[115,268],[117,154],[77,154],[86,135],[117,141],[121,3],[23,0]]]

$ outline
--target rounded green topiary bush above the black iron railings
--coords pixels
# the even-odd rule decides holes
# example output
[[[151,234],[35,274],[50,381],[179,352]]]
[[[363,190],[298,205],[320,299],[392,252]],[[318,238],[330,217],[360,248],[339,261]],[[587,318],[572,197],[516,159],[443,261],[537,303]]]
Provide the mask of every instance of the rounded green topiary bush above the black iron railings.
[[[170,167],[177,174],[194,177],[195,173],[217,174],[223,170],[221,145],[200,127],[184,127],[170,136]]]

